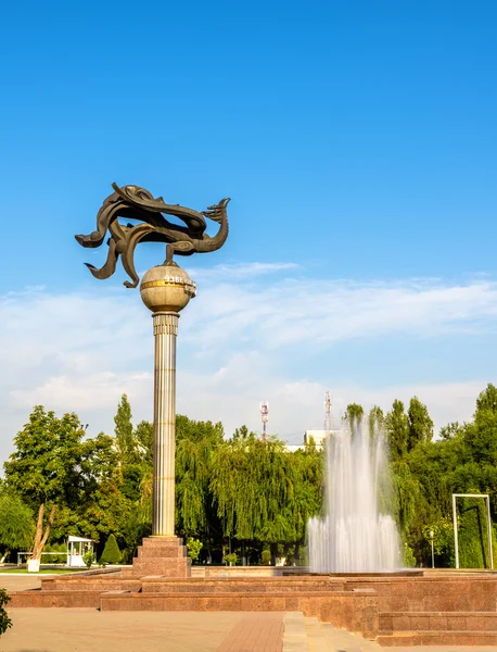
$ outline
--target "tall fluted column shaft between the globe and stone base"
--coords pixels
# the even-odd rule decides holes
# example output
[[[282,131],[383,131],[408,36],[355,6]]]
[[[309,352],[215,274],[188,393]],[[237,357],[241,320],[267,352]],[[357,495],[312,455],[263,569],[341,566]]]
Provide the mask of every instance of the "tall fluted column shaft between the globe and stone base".
[[[175,431],[176,337],[178,313],[153,316],[154,372],[154,477],[152,536],[175,536]]]

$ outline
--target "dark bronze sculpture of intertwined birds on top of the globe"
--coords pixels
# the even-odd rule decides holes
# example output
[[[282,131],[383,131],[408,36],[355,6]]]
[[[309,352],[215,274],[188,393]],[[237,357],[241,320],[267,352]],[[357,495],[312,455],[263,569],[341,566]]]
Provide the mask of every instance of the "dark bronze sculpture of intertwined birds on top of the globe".
[[[191,255],[206,253],[222,247],[228,237],[227,205],[229,198],[221,199],[218,204],[197,212],[179,204],[167,204],[162,197],[156,199],[151,192],[138,186],[117,186],[112,184],[114,192],[103,202],[97,215],[97,230],[89,236],[75,236],[82,247],[100,247],[110,233],[109,253],[105,264],[97,268],[85,263],[91,274],[99,279],[109,278],[116,269],[120,255],[123,267],[131,281],[126,280],[127,288],[136,288],[139,278],[135,268],[133,254],[139,242],[165,242],[166,263],[173,262],[173,255]],[[186,226],[174,224],[164,217],[173,215],[181,220]],[[137,220],[141,224],[120,224],[118,217]],[[205,217],[219,224],[215,236],[205,230]]]

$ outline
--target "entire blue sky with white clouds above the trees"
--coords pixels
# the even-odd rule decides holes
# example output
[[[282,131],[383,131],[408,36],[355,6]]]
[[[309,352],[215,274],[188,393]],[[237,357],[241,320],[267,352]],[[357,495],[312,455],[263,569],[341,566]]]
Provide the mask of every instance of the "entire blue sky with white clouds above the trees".
[[[122,391],[150,416],[148,314],[73,238],[114,180],[232,198],[227,244],[188,260],[180,411],[231,431],[269,400],[291,441],[326,389],[336,418],[412,393],[469,418],[497,380],[496,21],[489,0],[4,8],[0,457],[35,403],[93,432]]]

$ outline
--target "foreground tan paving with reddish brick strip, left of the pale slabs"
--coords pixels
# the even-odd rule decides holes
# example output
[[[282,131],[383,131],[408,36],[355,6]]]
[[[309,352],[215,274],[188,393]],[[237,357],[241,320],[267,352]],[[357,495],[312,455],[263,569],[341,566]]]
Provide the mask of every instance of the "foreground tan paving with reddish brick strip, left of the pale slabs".
[[[281,652],[283,614],[11,609],[1,652]]]

